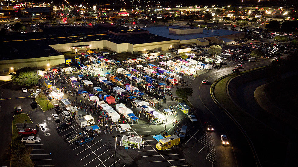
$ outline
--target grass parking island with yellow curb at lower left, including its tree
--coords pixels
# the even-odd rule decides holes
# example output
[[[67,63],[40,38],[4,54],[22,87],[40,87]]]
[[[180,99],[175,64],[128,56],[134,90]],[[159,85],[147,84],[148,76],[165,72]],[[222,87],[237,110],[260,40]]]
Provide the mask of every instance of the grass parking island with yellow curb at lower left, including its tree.
[[[32,121],[29,118],[28,114],[18,114],[13,116],[12,118],[12,147],[11,147],[11,166],[24,166],[24,167],[32,167],[33,163],[30,159],[30,150],[31,148],[27,148],[23,143],[20,143],[20,137],[18,134],[18,128],[16,124],[23,124],[27,120],[27,124],[31,124]],[[22,153],[23,152],[23,153]],[[26,152],[26,154],[24,153]],[[21,158],[20,158],[21,157]]]

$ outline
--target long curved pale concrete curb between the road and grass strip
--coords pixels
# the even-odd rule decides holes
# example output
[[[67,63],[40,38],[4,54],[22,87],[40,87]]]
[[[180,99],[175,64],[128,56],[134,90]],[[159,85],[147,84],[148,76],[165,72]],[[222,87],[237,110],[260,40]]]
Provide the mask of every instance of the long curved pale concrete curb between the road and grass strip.
[[[242,126],[238,123],[238,121],[237,121],[237,120],[230,114],[229,111],[227,111],[227,109],[225,109],[225,108],[224,108],[224,107],[217,101],[217,99],[216,99],[215,96],[214,96],[214,91],[213,91],[213,90],[214,90],[214,85],[216,85],[216,84],[219,82],[219,80],[222,80],[223,78],[225,78],[225,77],[227,77],[227,76],[229,76],[229,75],[231,75],[231,74],[228,74],[228,75],[225,75],[225,76],[223,76],[223,77],[220,77],[220,78],[218,78],[217,80],[215,80],[215,81],[212,83],[211,88],[210,88],[210,94],[211,94],[211,97],[212,97],[213,101],[217,104],[217,106],[220,107],[220,109],[223,110],[224,113],[226,113],[226,114],[231,118],[231,120],[237,125],[237,127],[240,129],[240,131],[242,132],[242,134],[244,135],[244,137],[245,137],[246,140],[248,141],[248,144],[249,144],[249,146],[250,146],[250,148],[251,148],[251,151],[252,151],[252,153],[253,153],[253,155],[254,155],[254,158],[255,158],[256,166],[257,166],[257,167],[262,167],[261,162],[260,162],[260,160],[259,160],[259,158],[258,158],[257,152],[255,151],[255,147],[254,147],[254,145],[253,145],[251,139],[248,137],[248,135],[246,134],[246,132],[244,131],[244,129],[242,128]],[[235,76],[235,77],[237,77],[237,76]],[[229,98],[230,98],[230,97],[229,97]],[[233,101],[232,101],[232,102],[233,102]],[[234,102],[233,102],[233,103],[234,103]],[[238,106],[237,106],[237,107],[238,107]]]

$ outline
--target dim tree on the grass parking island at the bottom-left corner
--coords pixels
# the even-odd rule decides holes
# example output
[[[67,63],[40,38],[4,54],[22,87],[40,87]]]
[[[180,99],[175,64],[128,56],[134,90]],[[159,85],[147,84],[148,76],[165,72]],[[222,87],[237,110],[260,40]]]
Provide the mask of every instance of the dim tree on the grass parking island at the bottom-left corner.
[[[32,147],[26,147],[20,141],[15,141],[11,146],[11,163],[12,166],[28,166],[28,164],[32,165],[30,160],[30,154],[32,151]]]

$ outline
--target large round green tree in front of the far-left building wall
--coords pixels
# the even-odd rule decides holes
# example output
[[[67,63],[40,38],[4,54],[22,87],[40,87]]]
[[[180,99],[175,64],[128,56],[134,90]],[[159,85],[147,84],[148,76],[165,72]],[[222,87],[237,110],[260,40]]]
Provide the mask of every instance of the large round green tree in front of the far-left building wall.
[[[38,84],[38,75],[36,70],[30,67],[24,67],[16,71],[16,74],[11,76],[12,83],[20,86],[29,87]]]

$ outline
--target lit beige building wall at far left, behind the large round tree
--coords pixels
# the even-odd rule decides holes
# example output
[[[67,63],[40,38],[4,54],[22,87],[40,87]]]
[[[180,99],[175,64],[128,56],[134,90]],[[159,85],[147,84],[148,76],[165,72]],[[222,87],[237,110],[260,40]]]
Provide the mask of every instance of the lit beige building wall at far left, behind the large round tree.
[[[15,72],[23,67],[51,67],[65,63],[64,55],[47,56],[32,59],[16,59],[16,60],[1,60],[0,73],[4,73],[4,69],[9,69],[9,72]],[[50,64],[50,66],[47,66]],[[12,67],[12,69],[11,69]]]

